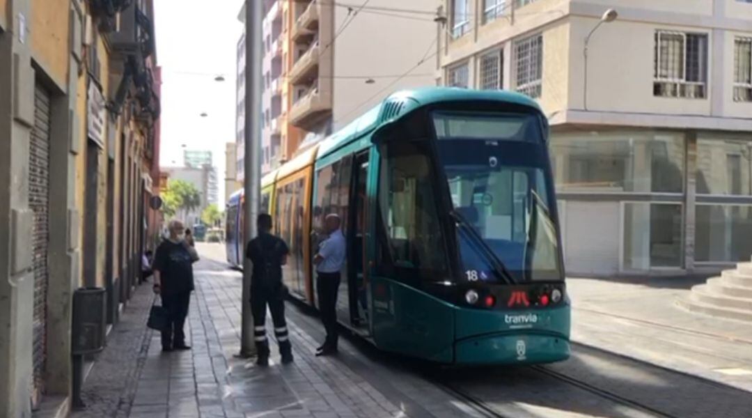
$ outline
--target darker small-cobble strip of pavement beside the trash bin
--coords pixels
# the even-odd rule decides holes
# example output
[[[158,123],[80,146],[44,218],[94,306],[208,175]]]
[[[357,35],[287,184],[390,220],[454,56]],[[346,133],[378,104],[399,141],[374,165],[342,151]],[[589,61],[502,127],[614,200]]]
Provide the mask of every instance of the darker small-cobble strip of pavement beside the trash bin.
[[[87,407],[74,412],[74,418],[128,416],[152,333],[145,326],[152,301],[149,284],[136,288],[83,384]]]

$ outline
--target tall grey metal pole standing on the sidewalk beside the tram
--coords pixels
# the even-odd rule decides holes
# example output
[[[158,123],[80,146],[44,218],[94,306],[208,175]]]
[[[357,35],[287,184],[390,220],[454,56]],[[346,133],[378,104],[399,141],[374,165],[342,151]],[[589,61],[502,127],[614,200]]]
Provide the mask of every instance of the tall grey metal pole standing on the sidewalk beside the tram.
[[[256,236],[256,217],[261,200],[261,65],[262,65],[262,14],[261,0],[245,2],[245,157],[244,157],[244,241]],[[241,348],[239,356],[247,358],[256,354],[253,342],[253,314],[250,311],[250,259],[243,252],[243,319],[241,323]]]

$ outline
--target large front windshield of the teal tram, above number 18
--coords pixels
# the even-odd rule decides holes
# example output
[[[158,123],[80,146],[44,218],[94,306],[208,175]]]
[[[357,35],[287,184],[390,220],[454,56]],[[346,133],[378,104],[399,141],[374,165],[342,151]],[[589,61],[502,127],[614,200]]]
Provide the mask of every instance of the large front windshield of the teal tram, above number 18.
[[[562,280],[538,118],[437,113],[433,122],[467,280]]]

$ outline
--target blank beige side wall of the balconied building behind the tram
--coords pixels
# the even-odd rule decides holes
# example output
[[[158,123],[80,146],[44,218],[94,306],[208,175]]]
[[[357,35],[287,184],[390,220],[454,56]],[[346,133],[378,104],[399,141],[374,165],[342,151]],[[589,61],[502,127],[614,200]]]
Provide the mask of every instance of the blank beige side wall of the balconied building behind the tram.
[[[411,9],[432,11],[441,5],[440,0],[411,0]],[[405,8],[399,0],[374,0],[369,7]],[[346,8],[335,8],[335,28],[347,16]],[[432,20],[397,19],[379,14],[361,13],[337,38],[334,47],[334,74],[338,76],[378,76],[403,74],[426,55],[435,53],[436,25]],[[335,78],[333,129],[339,129],[376,105],[391,92],[416,86],[435,85],[435,58],[427,59],[412,74],[379,92],[394,78],[375,78],[376,83],[366,84],[362,78]],[[364,101],[379,92],[369,101]]]

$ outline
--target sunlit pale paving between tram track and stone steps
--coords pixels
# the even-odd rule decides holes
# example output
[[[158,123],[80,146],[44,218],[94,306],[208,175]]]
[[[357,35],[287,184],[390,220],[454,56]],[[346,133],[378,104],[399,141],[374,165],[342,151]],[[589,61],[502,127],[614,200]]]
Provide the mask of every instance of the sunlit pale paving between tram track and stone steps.
[[[676,303],[702,281],[570,278],[572,341],[752,391],[752,324]]]

